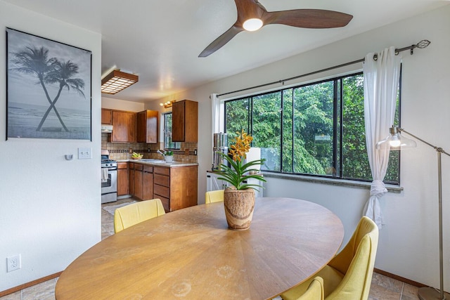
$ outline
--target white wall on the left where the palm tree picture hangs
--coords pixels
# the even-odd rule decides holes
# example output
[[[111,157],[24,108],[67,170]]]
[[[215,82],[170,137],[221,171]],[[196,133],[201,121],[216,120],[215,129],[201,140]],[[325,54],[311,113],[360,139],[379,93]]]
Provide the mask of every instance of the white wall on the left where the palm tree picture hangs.
[[[0,1],[0,291],[64,270],[101,240],[101,35]],[[92,51],[92,142],[6,141],[6,27]],[[77,148],[92,159],[77,159]],[[65,154],[75,159],[66,161]],[[6,272],[6,257],[22,268]]]

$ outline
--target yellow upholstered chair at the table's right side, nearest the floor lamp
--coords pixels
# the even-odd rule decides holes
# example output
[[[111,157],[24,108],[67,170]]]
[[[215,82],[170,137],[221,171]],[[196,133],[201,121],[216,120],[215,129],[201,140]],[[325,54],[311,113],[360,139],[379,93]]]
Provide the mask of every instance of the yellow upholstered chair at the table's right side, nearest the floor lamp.
[[[349,242],[315,276],[323,278],[326,300],[365,300],[371,288],[378,247],[378,227],[368,217],[359,221]],[[285,300],[298,299],[311,280],[281,294]]]

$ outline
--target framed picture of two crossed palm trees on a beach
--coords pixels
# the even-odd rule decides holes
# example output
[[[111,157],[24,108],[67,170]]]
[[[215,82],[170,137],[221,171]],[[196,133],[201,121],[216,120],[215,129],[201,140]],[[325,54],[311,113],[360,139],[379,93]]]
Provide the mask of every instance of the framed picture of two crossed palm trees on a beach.
[[[6,139],[91,139],[91,51],[6,28]]]

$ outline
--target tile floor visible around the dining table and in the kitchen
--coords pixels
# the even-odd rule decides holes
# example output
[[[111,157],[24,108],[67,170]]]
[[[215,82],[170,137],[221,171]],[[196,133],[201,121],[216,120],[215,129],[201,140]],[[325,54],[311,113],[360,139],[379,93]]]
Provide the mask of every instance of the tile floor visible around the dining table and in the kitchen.
[[[134,201],[132,198],[119,200],[114,204],[106,203],[102,204],[102,207],[108,205],[120,204],[123,202]],[[108,211],[105,209],[101,210],[101,238],[102,240],[106,237],[114,234],[114,219]],[[54,300],[54,292],[56,281],[58,278],[42,282],[39,285],[34,285],[33,287],[28,287],[19,292],[9,294],[7,296],[0,297],[0,300]],[[276,298],[280,299],[280,298]],[[371,292],[368,297],[369,300],[416,300],[417,287],[408,285],[404,282],[394,280],[392,278],[387,278],[384,275],[378,273],[373,274]]]

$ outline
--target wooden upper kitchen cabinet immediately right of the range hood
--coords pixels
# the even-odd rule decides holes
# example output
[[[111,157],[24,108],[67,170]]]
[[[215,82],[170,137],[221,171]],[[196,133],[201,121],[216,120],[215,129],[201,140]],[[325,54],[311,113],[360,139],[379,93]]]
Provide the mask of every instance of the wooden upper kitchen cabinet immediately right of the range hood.
[[[136,112],[113,110],[111,142],[136,143]]]

